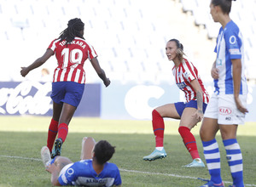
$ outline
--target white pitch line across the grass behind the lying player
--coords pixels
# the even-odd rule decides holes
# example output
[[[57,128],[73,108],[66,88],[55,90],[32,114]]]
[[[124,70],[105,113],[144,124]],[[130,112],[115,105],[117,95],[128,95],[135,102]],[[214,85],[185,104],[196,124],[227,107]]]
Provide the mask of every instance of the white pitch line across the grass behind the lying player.
[[[17,159],[31,160],[31,161],[42,161],[42,159],[38,159],[38,158],[28,158],[28,157],[21,157],[21,156],[0,156],[0,157],[17,158]],[[143,171],[137,171],[137,170],[123,169],[123,168],[119,168],[119,170],[122,172],[127,172],[127,173],[143,173],[143,174],[151,174],[151,175],[163,175],[163,176],[174,177],[174,178],[191,178],[191,179],[196,179],[196,180],[198,179],[195,177],[170,174],[170,173],[151,173],[151,172],[143,172]],[[224,181],[224,183],[232,184],[230,181]],[[255,184],[244,184],[244,185],[245,186],[256,186]]]

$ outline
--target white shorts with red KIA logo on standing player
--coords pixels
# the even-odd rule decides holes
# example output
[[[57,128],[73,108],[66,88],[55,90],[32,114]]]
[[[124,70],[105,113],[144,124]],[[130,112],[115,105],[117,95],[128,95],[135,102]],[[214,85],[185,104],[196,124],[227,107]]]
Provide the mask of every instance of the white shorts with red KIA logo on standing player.
[[[239,95],[241,104],[247,106],[247,95]],[[204,117],[218,119],[218,124],[233,125],[244,124],[245,114],[236,108],[233,94],[212,94]]]

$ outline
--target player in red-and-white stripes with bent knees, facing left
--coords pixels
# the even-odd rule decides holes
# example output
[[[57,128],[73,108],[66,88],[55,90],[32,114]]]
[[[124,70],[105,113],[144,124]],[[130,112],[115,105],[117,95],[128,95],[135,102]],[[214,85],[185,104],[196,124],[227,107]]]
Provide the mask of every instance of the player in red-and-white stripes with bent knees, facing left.
[[[166,150],[163,146],[165,130],[163,117],[171,117],[180,119],[178,132],[193,159],[185,167],[205,167],[199,156],[195,137],[190,130],[198,122],[201,122],[209,96],[201,82],[197,69],[188,59],[183,57],[183,54],[183,45],[177,39],[172,39],[166,43],[166,55],[174,63],[172,73],[177,87],[185,93],[186,103],[177,102],[162,105],[152,112],[155,150],[150,155],[144,156],[143,160],[154,161],[155,159],[166,157]]]

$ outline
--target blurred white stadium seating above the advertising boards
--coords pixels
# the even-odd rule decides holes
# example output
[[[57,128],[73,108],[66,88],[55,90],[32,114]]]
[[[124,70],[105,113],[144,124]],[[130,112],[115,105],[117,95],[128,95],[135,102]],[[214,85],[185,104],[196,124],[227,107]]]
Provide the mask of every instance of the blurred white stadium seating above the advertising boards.
[[[231,18],[244,32],[247,77],[255,80],[256,1],[248,1],[236,1]],[[201,77],[212,81],[209,72],[219,25],[211,20],[209,11],[209,0],[1,0],[4,68],[0,70],[0,81],[24,80],[20,66],[42,55],[74,17],[84,21],[84,37],[96,49],[112,81],[172,83],[172,62],[165,54],[166,42],[172,38],[183,42],[185,53]],[[42,68],[52,74],[55,65],[51,58]],[[90,62],[86,69],[87,82],[99,82]],[[40,80],[40,71],[33,71],[26,79]]]

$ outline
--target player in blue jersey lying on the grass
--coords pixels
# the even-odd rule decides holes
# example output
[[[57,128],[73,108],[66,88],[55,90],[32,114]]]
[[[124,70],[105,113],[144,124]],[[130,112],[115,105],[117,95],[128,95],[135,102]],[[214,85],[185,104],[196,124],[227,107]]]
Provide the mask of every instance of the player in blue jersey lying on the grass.
[[[51,173],[53,185],[121,186],[119,168],[109,163],[114,147],[106,140],[96,143],[93,138],[84,137],[81,161],[70,161],[64,156],[51,160],[47,146],[41,150],[46,171]]]

